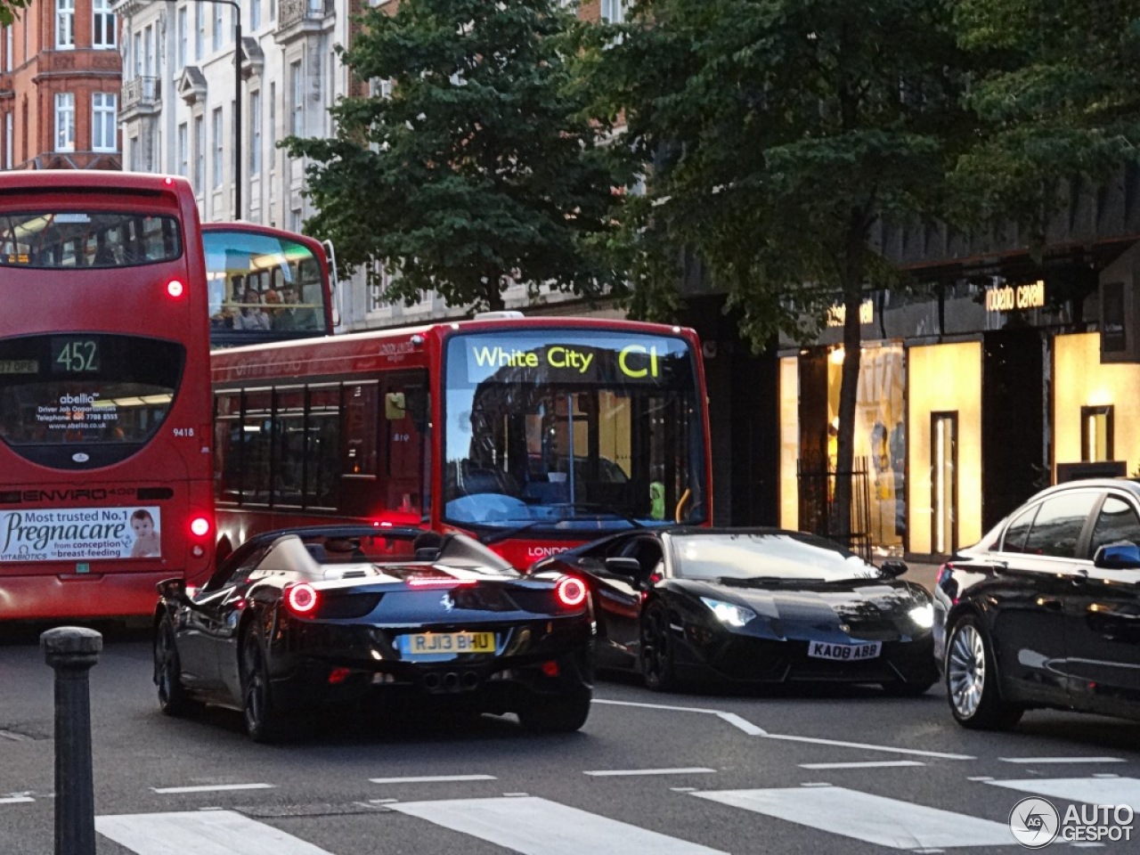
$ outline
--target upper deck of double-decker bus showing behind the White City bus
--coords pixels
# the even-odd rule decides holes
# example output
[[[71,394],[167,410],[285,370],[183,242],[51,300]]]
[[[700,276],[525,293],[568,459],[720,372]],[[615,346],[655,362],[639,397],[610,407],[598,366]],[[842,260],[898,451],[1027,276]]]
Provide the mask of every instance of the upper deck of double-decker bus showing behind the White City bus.
[[[252,222],[204,222],[202,245],[211,347],[332,335],[335,285],[324,244]]]

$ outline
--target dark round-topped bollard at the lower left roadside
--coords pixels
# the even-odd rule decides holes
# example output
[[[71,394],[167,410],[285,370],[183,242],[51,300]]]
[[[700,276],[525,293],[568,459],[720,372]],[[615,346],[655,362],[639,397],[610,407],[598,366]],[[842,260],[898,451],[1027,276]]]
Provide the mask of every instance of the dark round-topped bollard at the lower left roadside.
[[[56,855],[95,855],[87,673],[99,661],[103,636],[93,629],[57,627],[40,635],[40,650],[56,671]]]

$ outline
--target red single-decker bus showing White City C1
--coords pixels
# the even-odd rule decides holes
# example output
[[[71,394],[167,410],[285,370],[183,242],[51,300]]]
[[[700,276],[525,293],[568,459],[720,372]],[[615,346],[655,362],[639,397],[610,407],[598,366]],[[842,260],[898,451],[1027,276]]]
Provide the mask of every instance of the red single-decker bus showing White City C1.
[[[495,315],[215,351],[219,535],[414,523],[521,568],[630,526],[711,522],[691,329]]]

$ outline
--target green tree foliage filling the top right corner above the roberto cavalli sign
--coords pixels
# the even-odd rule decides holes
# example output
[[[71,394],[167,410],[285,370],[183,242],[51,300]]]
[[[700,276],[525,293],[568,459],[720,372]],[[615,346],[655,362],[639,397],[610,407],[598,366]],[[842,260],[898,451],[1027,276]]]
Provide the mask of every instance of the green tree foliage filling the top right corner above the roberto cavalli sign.
[[[1140,0],[959,0],[983,136],[956,179],[974,213],[1044,239],[1069,182],[1137,160]]]

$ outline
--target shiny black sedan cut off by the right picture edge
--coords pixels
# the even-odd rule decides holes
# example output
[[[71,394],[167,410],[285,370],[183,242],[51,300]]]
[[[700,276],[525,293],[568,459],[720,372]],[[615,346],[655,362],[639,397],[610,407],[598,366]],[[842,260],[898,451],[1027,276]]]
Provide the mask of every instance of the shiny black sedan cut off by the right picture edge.
[[[962,726],[1033,707],[1140,719],[1140,483],[1039,492],[943,565],[935,614]]]

